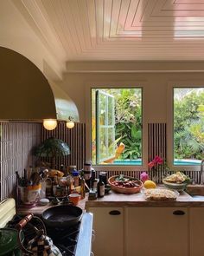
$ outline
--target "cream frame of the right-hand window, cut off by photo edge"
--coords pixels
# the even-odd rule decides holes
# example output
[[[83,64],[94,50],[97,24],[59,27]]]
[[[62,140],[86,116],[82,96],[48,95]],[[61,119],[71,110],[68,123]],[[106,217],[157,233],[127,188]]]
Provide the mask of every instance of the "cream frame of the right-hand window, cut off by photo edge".
[[[201,81],[175,81],[169,82],[167,89],[167,163],[168,166],[175,170],[200,171],[200,165],[174,165],[174,89],[179,88],[194,88],[199,89],[204,87],[204,82]]]

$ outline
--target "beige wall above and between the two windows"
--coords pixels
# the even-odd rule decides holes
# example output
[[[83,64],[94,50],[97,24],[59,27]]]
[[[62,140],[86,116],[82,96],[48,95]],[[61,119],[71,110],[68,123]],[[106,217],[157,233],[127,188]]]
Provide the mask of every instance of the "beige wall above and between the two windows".
[[[204,73],[138,73],[138,74],[66,74],[61,87],[71,96],[86,121],[86,99],[94,86],[142,86],[143,108],[147,122],[167,121],[168,88],[171,84],[204,84]]]

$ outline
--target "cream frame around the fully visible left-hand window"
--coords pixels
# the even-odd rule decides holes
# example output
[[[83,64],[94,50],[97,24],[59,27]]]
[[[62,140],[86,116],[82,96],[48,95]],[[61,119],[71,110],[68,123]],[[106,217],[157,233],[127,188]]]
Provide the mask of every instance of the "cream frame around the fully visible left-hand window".
[[[142,105],[142,165],[93,165],[96,171],[141,171],[147,167],[148,157],[144,153],[147,152],[148,141],[147,138],[148,128],[145,120],[145,107],[143,103],[146,82],[88,82],[86,84],[86,159],[92,159],[92,89],[141,89],[141,105]]]

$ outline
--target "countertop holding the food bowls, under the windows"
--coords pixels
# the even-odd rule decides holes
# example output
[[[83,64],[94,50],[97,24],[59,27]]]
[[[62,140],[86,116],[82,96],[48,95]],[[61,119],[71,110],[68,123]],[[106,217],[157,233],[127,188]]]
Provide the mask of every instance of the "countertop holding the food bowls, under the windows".
[[[137,194],[118,194],[111,191],[103,198],[86,200],[86,210],[89,207],[204,207],[204,197],[194,199],[183,191],[174,201],[145,200],[143,191]]]

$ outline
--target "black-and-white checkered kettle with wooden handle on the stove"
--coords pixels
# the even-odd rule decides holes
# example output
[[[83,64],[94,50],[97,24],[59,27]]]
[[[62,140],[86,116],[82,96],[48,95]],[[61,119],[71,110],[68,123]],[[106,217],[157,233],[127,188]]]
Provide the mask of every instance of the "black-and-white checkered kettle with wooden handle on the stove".
[[[26,217],[24,217],[17,225],[16,228],[18,229],[18,242],[20,244],[20,247],[22,249],[22,252],[28,253],[29,255],[52,255],[52,256],[62,256],[60,250],[57,248],[57,246],[54,246],[53,240],[49,238],[46,234],[46,227],[42,220],[35,216],[35,219],[38,219],[41,222],[41,229],[37,229],[35,226],[35,232],[36,236],[34,239],[30,240],[28,243],[27,248],[25,248],[22,244],[22,241],[20,240],[22,236],[22,227],[25,226],[29,220],[31,220],[34,217],[33,213],[30,213]]]

